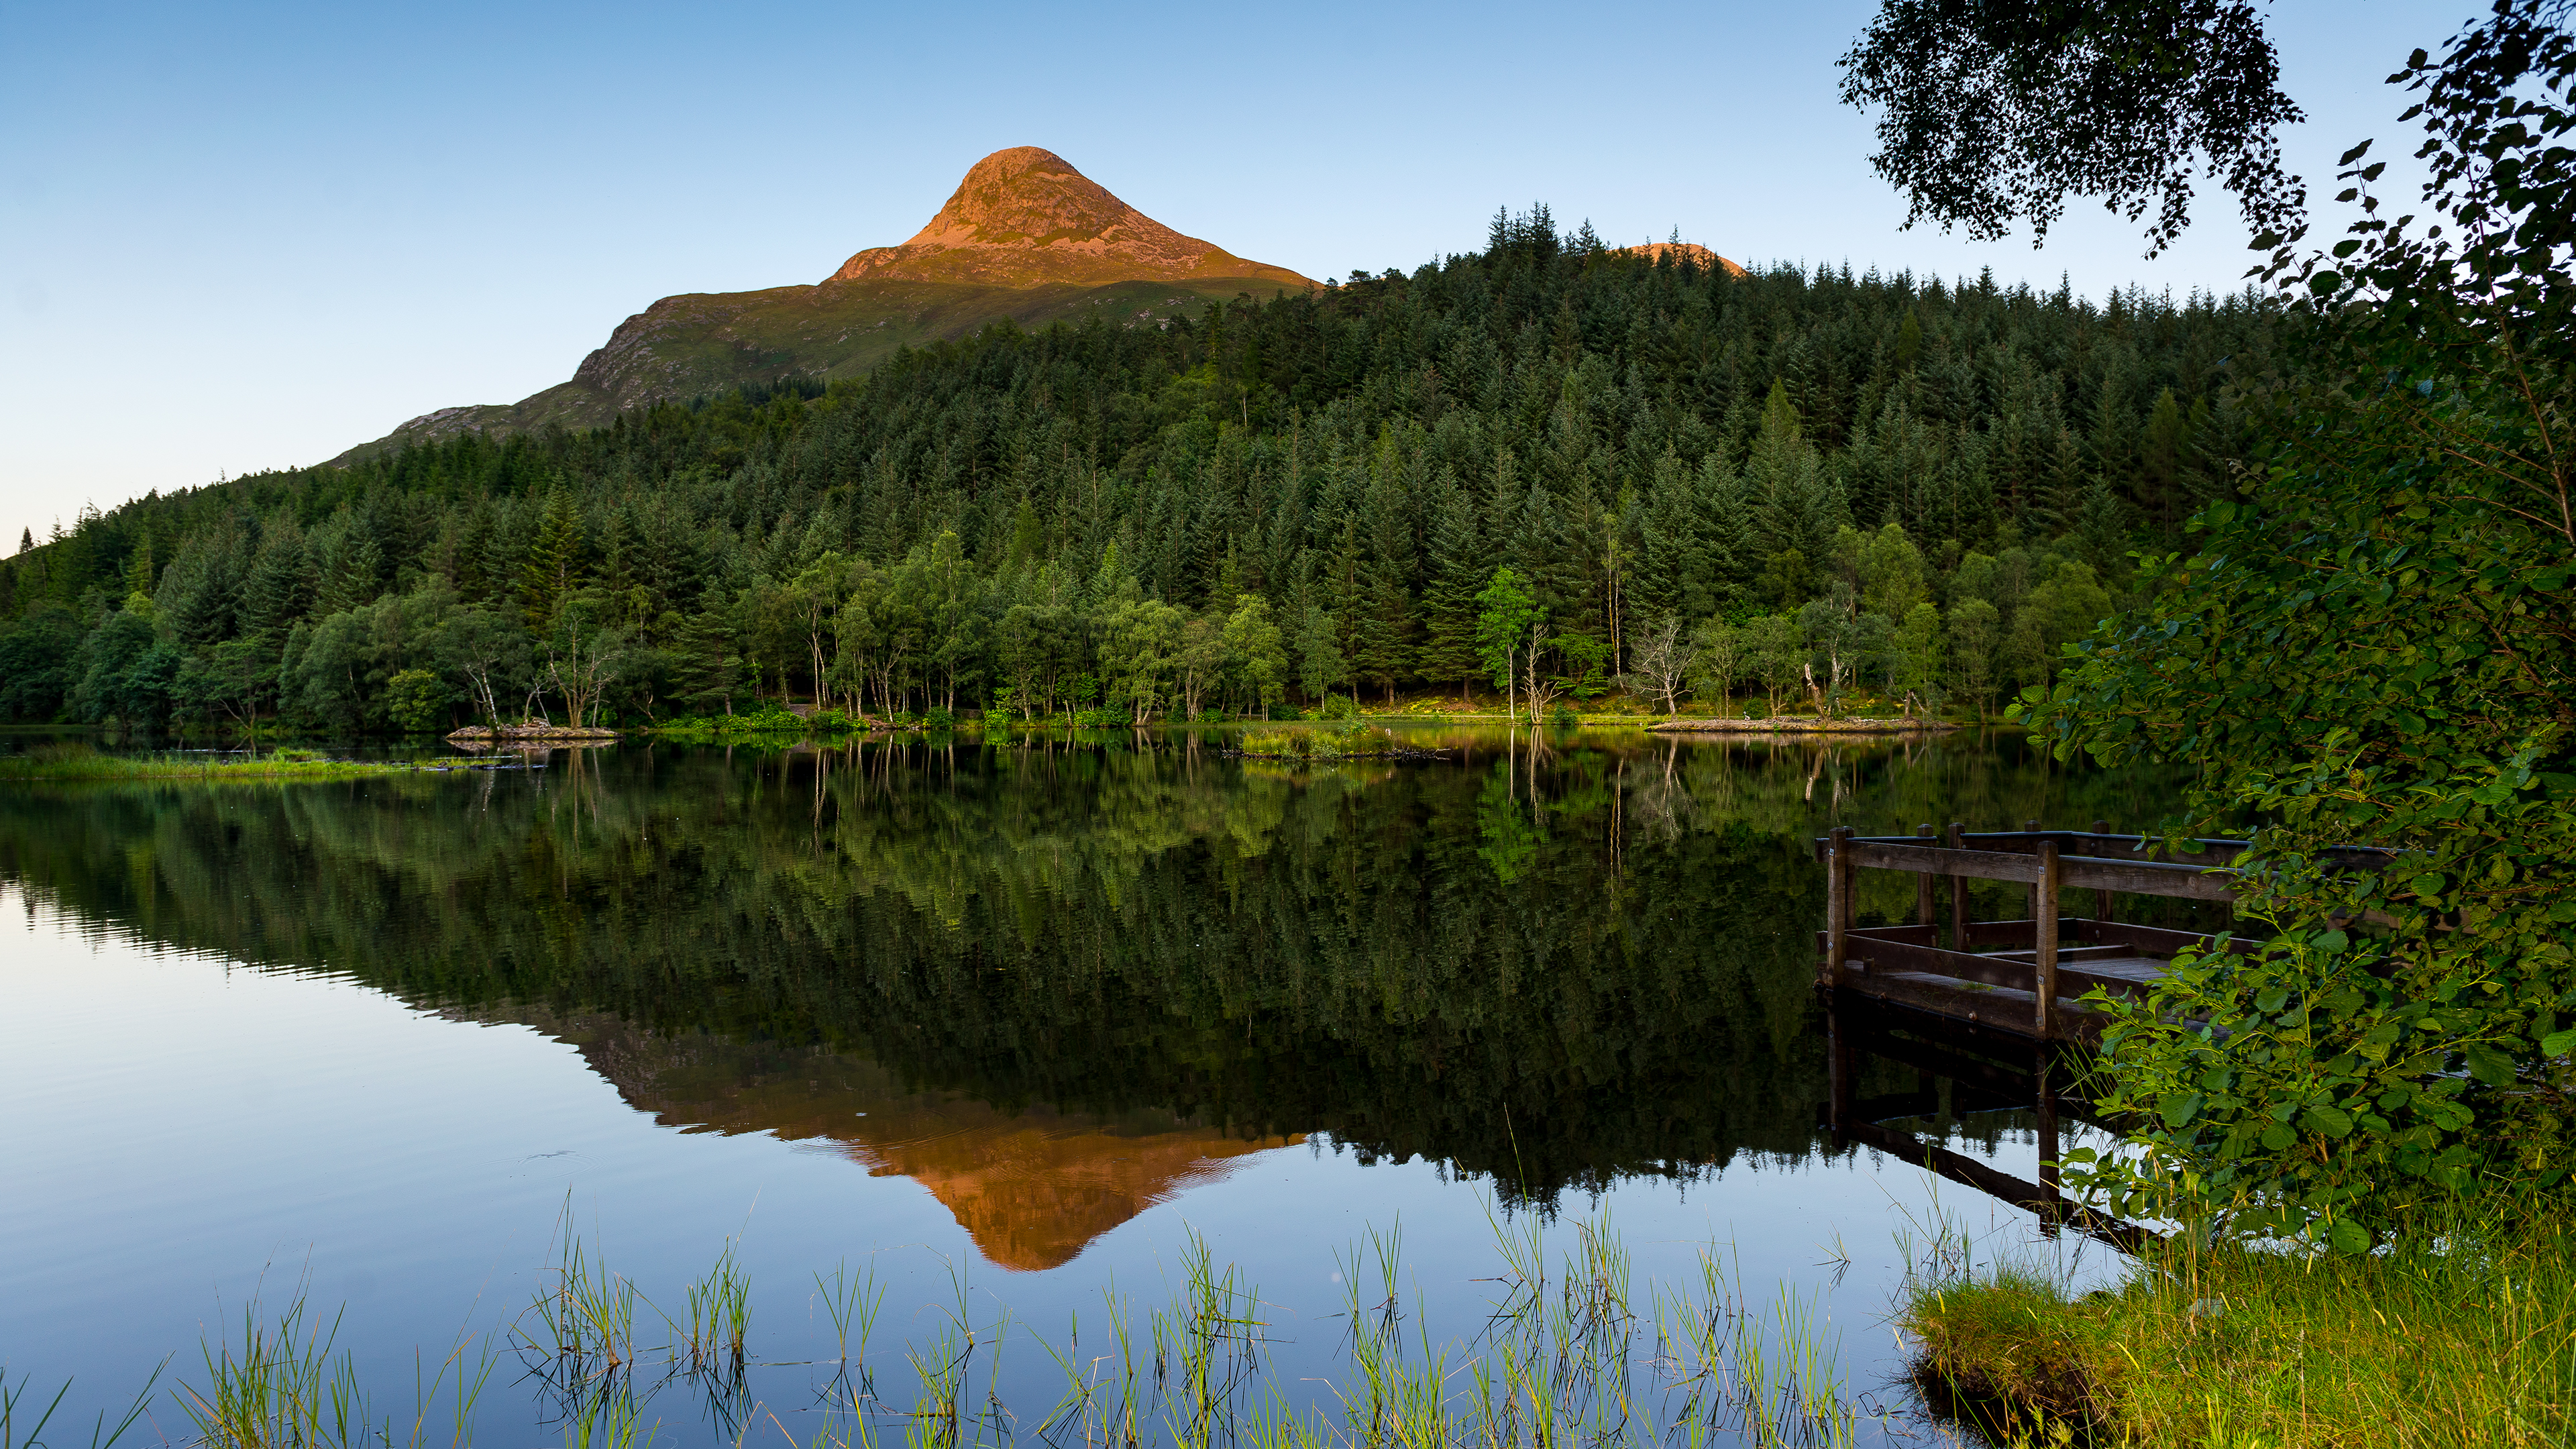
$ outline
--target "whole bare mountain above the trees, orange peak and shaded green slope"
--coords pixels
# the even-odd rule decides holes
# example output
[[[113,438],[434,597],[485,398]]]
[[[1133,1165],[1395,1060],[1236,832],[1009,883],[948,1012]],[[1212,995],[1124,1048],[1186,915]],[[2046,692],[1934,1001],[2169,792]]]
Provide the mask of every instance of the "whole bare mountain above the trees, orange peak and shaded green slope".
[[[665,297],[621,322],[572,382],[520,402],[422,413],[332,462],[456,433],[598,428],[641,402],[744,382],[858,376],[896,348],[1005,320],[1157,325],[1211,299],[1309,286],[1296,271],[1175,232],[1048,150],[1010,147],[974,162],[899,248],[866,248],[814,286]]]

